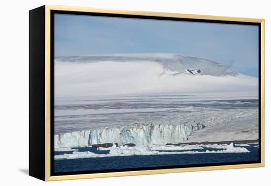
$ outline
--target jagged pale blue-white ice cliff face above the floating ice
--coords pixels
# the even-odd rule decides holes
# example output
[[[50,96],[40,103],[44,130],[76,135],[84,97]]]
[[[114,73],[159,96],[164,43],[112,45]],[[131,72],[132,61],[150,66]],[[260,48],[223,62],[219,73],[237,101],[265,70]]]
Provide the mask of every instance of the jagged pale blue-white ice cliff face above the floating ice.
[[[192,131],[203,128],[202,124],[133,124],[124,127],[102,127],[75,131],[54,136],[54,148],[88,147],[93,144],[118,143],[124,145],[177,144],[189,139]]]

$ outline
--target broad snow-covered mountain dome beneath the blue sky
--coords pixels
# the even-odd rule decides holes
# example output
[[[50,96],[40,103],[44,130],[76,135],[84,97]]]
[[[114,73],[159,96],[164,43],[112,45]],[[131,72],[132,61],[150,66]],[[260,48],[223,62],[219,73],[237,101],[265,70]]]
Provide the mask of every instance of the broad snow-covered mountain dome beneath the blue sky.
[[[258,93],[258,78],[178,54],[141,53],[55,58],[55,94]]]

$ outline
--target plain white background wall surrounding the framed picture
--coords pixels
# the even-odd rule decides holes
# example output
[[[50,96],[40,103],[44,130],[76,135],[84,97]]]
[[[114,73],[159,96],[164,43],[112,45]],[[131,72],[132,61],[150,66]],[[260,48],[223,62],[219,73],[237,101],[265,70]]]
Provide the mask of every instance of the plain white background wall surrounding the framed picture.
[[[163,11],[266,19],[266,167],[50,182],[48,185],[209,185],[256,186],[270,183],[270,52],[268,0],[3,0],[0,10],[0,183],[45,185],[27,176],[28,169],[28,10],[43,4]],[[5,183],[5,184],[3,184]],[[265,184],[266,183],[266,184]]]

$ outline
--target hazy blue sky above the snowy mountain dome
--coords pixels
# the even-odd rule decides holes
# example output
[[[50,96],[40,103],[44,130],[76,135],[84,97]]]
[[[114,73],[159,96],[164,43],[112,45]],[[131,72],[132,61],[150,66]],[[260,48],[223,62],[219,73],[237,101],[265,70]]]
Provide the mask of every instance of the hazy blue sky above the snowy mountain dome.
[[[55,14],[55,56],[162,52],[258,77],[258,27]]]

